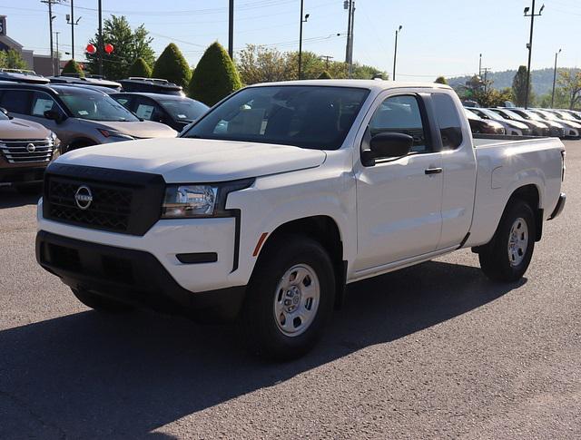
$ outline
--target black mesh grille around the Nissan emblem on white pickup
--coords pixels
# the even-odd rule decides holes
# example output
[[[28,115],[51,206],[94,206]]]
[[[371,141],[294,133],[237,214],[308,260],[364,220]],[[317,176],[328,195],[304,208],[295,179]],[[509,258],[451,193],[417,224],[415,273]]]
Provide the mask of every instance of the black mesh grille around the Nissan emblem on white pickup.
[[[132,191],[90,185],[93,201],[86,210],[80,209],[74,195],[81,184],[65,179],[53,178],[49,183],[50,218],[92,226],[100,230],[124,232],[129,226]]]

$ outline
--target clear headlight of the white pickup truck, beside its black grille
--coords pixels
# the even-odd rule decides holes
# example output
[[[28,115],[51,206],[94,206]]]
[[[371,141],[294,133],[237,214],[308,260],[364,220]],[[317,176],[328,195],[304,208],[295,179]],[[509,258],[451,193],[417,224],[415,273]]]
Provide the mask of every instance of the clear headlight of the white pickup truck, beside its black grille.
[[[168,185],[163,197],[162,219],[229,216],[226,211],[228,194],[248,188],[253,182],[253,179],[244,179],[216,185]]]

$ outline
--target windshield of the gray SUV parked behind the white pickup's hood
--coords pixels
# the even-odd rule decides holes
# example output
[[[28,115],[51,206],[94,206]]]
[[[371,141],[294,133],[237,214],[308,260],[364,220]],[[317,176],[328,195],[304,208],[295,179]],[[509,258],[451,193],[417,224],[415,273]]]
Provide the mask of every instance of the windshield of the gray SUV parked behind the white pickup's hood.
[[[75,118],[89,121],[136,122],[139,119],[123,105],[103,93],[60,93]]]

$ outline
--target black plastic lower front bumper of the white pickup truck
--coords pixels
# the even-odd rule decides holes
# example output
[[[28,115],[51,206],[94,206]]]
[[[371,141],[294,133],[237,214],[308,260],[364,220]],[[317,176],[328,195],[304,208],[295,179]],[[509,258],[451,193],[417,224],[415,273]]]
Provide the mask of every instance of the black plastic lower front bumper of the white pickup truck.
[[[234,318],[246,290],[236,286],[192,293],[149,252],[75,240],[44,230],[36,235],[36,260],[71,288],[198,318]]]

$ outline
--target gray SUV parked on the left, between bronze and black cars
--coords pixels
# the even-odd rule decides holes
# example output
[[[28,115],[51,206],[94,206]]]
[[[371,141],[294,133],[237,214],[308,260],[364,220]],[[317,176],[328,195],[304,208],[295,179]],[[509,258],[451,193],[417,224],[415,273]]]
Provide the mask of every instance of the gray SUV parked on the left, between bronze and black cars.
[[[0,107],[55,132],[62,152],[99,143],[177,136],[167,125],[139,119],[106,93],[83,87],[0,83]]]

